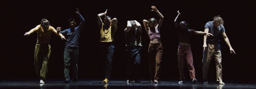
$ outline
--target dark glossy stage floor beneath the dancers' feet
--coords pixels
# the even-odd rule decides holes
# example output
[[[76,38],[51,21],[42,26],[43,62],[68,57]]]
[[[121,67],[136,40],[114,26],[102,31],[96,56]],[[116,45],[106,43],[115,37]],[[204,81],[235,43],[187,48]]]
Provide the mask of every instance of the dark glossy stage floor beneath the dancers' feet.
[[[185,81],[185,84],[179,84],[178,81],[160,81],[160,83],[151,83],[141,81],[141,83],[127,83],[125,80],[110,80],[108,84],[101,83],[101,80],[77,80],[77,82],[64,83],[64,80],[47,80],[45,84],[39,84],[38,81],[0,81],[0,89],[256,89],[256,84],[244,82],[228,83],[224,85],[217,82],[203,84],[198,81],[192,84],[191,81]]]

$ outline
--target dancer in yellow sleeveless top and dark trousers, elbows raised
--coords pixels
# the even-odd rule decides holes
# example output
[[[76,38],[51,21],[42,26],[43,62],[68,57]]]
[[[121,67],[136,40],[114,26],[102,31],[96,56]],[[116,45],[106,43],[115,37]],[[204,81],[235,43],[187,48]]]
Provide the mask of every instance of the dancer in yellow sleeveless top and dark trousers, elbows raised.
[[[108,80],[111,76],[111,66],[112,66],[112,59],[114,55],[114,34],[117,30],[117,18],[111,20],[110,16],[106,16],[107,10],[104,13],[100,13],[97,15],[98,25],[100,30],[100,45],[99,45],[99,52],[100,52],[100,59],[102,62],[106,63],[105,69],[105,79],[102,83],[108,83]],[[104,17],[104,24],[100,17]]]

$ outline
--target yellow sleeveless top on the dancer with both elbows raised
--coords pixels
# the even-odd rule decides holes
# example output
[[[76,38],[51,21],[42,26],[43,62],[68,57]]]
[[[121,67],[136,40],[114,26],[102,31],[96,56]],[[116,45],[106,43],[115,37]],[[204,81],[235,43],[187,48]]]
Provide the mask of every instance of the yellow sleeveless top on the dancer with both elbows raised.
[[[111,32],[111,26],[108,29],[104,29],[103,30],[103,23],[101,25],[101,29],[100,29],[100,42],[113,42],[113,34]]]

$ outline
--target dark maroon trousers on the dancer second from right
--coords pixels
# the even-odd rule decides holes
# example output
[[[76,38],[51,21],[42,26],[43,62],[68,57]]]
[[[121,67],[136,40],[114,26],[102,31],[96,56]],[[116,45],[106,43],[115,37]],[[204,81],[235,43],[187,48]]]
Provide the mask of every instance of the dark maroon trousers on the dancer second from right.
[[[180,44],[178,48],[178,61],[181,80],[184,80],[184,60],[187,62],[190,79],[195,79],[195,69],[190,45]]]

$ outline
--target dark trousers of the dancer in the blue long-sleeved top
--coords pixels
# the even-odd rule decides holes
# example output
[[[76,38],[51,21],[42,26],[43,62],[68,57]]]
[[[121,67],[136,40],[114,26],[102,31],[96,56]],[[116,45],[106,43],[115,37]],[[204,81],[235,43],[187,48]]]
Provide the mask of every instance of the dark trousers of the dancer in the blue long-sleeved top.
[[[77,79],[77,59],[78,59],[78,47],[67,47],[64,49],[64,76],[70,80],[69,71],[70,64],[72,66],[73,79]]]

